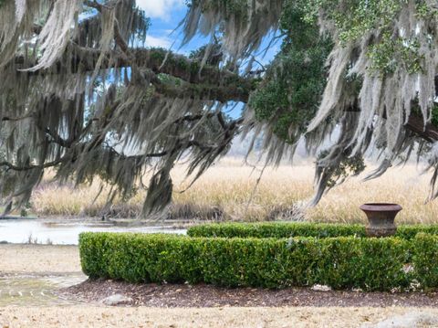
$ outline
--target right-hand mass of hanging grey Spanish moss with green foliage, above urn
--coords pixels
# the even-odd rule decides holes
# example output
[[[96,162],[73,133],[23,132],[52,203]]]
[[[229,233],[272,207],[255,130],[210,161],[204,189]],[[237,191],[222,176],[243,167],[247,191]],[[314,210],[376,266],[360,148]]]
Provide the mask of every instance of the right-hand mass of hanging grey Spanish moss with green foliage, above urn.
[[[274,9],[264,14],[265,24],[255,25],[256,17],[268,6]],[[268,163],[279,163],[285,153],[293,154],[300,137],[306,139],[310,152],[318,153],[333,133],[340,132],[331,151],[319,156],[315,201],[332,181],[330,175],[339,172],[339,167],[350,159],[380,153],[381,164],[369,176],[377,177],[401,157],[408,159],[412,149],[424,151],[415,144],[437,139],[437,135],[427,132],[437,97],[435,1],[243,0],[233,5],[226,1],[214,5],[203,0],[193,1],[190,13],[185,23],[188,36],[193,35],[194,26],[210,34],[220,26],[227,45],[224,48],[237,59],[248,57],[271,29],[281,27],[283,45],[270,67],[276,73],[268,71],[262,83],[265,93],[255,91],[262,99],[253,97],[250,101],[245,125],[246,130],[255,128],[256,134],[265,133]],[[319,43],[314,42],[318,37],[308,37],[315,26],[320,29]],[[300,42],[301,36],[308,39]],[[296,80],[306,84],[311,78],[303,79],[297,67],[307,71],[316,63],[322,69],[324,64],[315,61],[314,55],[326,38],[331,40],[325,60],[327,79],[322,78],[326,79],[323,90],[313,89],[320,98],[312,105],[305,102],[306,93],[296,84]],[[298,54],[305,56],[294,67],[288,67]],[[317,69],[315,77],[319,72]],[[281,92],[285,90],[283,97]],[[269,92],[271,103],[265,106]],[[296,96],[303,102],[293,101]],[[314,112],[314,106],[318,111]],[[303,111],[313,113],[311,118]],[[354,119],[351,112],[355,112]],[[422,128],[418,119],[422,120]],[[360,170],[356,171],[354,174]]]

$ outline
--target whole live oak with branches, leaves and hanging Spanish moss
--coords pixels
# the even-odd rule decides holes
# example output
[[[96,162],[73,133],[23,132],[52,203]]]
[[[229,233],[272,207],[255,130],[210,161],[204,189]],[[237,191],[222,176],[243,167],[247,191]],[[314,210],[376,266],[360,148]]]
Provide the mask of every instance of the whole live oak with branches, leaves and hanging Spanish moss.
[[[373,152],[381,165],[370,177],[416,153],[434,185],[436,0],[187,5],[183,43],[212,39],[190,57],[144,47],[150,21],[134,0],[0,0],[0,188],[10,206],[29,199],[48,167],[61,182],[99,175],[114,186],[109,200],[130,196],[152,170],[148,214],[170,202],[176,161],[186,158],[196,178],[249,131],[278,163],[299,139],[317,153],[339,130],[318,153],[315,203]],[[255,53],[269,40],[281,47],[262,67]],[[245,110],[230,119],[235,103]]]

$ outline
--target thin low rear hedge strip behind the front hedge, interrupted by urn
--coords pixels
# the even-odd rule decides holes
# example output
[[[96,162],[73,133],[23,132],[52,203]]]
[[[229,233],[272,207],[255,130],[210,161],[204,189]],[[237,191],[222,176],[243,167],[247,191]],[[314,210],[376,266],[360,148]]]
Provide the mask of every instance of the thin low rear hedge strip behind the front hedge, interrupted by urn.
[[[438,235],[438,225],[399,226],[395,237],[412,239],[418,233]],[[190,237],[290,238],[290,237],[365,237],[363,225],[329,223],[216,223],[190,227]]]

